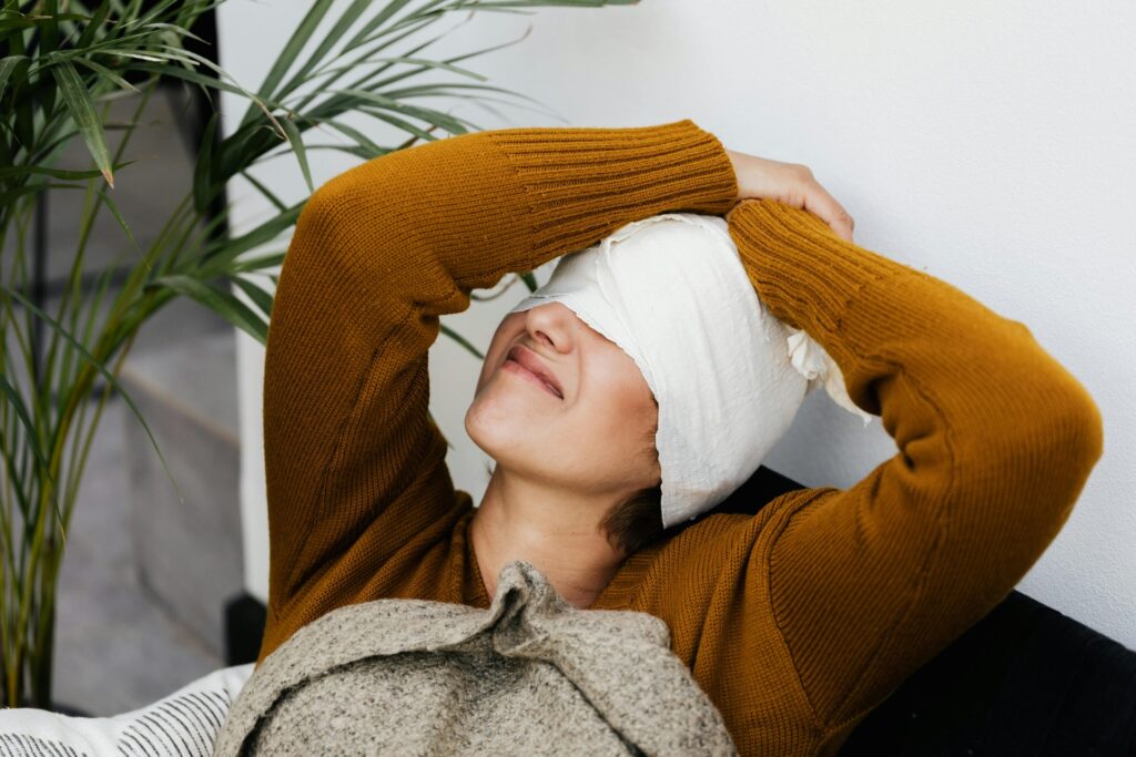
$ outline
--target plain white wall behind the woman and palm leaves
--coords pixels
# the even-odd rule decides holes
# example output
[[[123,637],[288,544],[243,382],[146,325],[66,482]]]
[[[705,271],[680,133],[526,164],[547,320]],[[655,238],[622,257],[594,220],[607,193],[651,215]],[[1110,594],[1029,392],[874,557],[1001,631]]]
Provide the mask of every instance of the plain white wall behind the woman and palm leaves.
[[[223,64],[254,89],[306,6],[222,6]],[[855,218],[858,244],[1030,327],[1094,396],[1106,438],[1067,525],[1018,588],[1136,648],[1136,6],[649,0],[483,12],[419,54],[501,44],[529,24],[518,44],[460,65],[560,119],[498,103],[501,117],[470,101],[427,103],[482,128],[692,118],[730,149],[808,165]],[[470,81],[429,81],[438,78]],[[385,144],[401,136],[369,128]],[[352,163],[321,159],[317,185]],[[294,162],[262,175],[290,196],[303,192]],[[239,219],[264,208],[247,186],[234,196]],[[551,263],[542,283],[549,272]],[[484,348],[523,293],[517,284],[444,322]],[[247,575],[265,598],[264,352],[240,335],[240,358]],[[462,417],[478,368],[440,337],[432,411],[456,445],[456,482],[475,502],[490,461]],[[808,486],[850,486],[896,451],[878,422],[859,426],[816,393],[766,464]]]

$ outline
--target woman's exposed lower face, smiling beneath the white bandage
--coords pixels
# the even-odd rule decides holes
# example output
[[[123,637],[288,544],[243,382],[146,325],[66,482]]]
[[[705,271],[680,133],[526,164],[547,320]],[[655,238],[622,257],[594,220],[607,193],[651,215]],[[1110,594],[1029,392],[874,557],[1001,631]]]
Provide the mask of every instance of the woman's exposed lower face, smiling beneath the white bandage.
[[[543,367],[563,396],[511,359]],[[466,411],[466,431],[498,466],[588,496],[660,481],[659,409],[635,361],[560,302],[504,317]]]

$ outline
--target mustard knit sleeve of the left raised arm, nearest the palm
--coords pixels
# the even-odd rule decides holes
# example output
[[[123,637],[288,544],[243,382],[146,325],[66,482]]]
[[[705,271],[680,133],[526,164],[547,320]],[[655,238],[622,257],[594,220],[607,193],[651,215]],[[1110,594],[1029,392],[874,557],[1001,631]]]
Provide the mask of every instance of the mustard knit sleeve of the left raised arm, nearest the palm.
[[[451,136],[323,185],[296,224],[268,330],[260,659],[329,609],[428,596],[442,580],[423,555],[470,503],[427,414],[440,316],[627,222],[724,213],[736,196],[722,145],[688,119]]]

